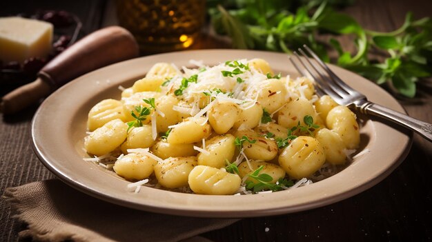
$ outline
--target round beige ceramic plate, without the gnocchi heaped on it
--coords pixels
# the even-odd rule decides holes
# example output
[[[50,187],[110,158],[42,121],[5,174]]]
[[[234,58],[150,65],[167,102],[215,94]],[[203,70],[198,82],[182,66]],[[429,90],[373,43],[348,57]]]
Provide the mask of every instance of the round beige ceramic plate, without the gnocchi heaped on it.
[[[362,148],[367,149],[342,172],[301,188],[244,196],[182,194],[143,187],[138,194],[126,190],[127,181],[114,172],[83,161],[83,139],[90,108],[102,99],[120,97],[119,85],[128,87],[144,77],[157,62],[190,66],[188,60],[215,65],[233,59],[266,59],[275,72],[295,73],[286,54],[248,50],[196,50],[158,54],[124,61],[79,77],[44,101],[32,121],[32,141],[42,163],[59,179],[99,199],[130,208],[208,217],[248,217],[284,214],[317,208],[358,194],[382,181],[406,157],[411,133],[378,121],[366,120]],[[371,101],[400,112],[403,108],[377,85],[341,68],[333,70]],[[389,152],[391,151],[391,152]]]

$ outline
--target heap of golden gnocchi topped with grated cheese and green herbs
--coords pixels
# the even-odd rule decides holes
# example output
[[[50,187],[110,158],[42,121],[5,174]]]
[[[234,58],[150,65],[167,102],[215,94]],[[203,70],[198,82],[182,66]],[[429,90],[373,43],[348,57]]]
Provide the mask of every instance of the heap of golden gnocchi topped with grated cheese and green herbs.
[[[94,105],[84,160],[139,180],[132,185],[232,195],[320,181],[359,146],[355,114],[317,97],[307,77],[292,79],[259,58],[190,64],[199,68],[155,63],[119,86],[120,100]]]

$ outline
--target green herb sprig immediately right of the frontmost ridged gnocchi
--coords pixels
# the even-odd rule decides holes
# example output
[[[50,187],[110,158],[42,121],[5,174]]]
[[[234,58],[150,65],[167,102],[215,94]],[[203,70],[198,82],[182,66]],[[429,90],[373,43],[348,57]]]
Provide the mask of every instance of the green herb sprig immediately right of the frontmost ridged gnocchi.
[[[261,172],[263,169],[264,165],[260,165],[257,170],[254,170],[247,175],[256,182],[250,180],[246,181],[246,190],[252,190],[253,192],[271,190],[273,192],[277,192],[284,190],[284,187],[288,188],[294,185],[293,181],[286,179],[279,179],[276,183],[271,183],[271,181],[273,181],[273,177],[271,177],[271,175],[266,173],[259,174],[259,172]]]

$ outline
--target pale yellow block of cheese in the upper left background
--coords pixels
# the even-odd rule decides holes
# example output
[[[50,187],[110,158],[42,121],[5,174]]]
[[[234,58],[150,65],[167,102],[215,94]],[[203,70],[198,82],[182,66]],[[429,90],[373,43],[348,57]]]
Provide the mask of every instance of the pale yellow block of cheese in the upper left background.
[[[23,63],[30,57],[46,57],[52,46],[51,23],[21,17],[0,18],[0,60]]]

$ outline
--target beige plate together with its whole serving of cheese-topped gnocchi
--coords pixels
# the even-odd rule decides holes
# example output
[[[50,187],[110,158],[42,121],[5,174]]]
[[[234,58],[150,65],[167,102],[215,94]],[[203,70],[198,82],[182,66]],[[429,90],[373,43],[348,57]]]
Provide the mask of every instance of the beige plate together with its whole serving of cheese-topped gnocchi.
[[[331,68],[371,101],[404,112],[375,83]],[[184,216],[269,216],[335,203],[382,181],[411,140],[319,97],[286,54],[252,50],[109,65],[59,88],[32,121],[35,153],[63,182]]]

